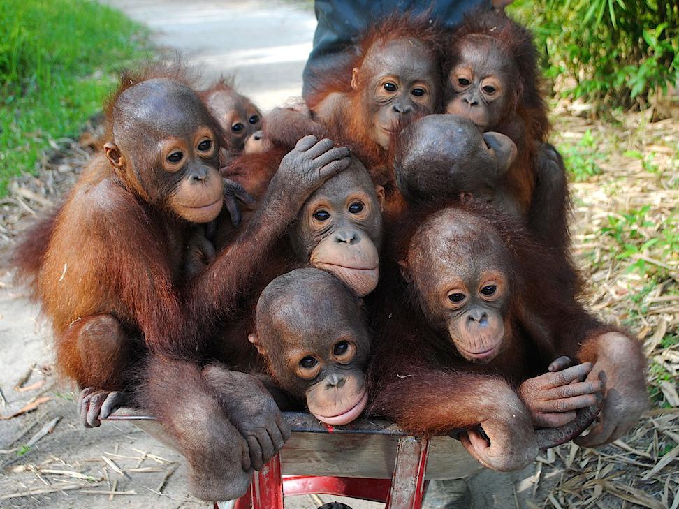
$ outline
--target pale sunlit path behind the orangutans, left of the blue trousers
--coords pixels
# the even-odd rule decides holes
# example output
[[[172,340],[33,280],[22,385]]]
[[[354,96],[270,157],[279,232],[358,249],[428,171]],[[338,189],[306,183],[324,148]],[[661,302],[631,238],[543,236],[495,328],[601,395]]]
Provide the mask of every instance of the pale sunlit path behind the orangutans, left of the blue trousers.
[[[233,75],[263,110],[302,93],[312,49],[313,3],[258,0],[105,0],[147,24],[156,45],[178,50],[205,78]]]

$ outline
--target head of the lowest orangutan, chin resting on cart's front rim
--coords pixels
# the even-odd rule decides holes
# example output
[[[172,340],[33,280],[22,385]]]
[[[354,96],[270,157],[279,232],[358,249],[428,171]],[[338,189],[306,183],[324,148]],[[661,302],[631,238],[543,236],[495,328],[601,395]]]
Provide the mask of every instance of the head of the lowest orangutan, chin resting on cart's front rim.
[[[274,279],[257,303],[249,340],[275,382],[329,425],[345,425],[367,404],[370,336],[360,299],[319,269]]]

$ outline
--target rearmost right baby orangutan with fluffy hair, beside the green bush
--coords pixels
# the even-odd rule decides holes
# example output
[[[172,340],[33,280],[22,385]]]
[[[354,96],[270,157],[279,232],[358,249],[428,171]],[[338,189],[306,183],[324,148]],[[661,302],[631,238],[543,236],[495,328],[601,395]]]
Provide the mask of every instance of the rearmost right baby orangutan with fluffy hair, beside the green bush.
[[[453,32],[446,53],[446,112],[472,120],[481,132],[511,138],[518,156],[501,183],[505,209],[546,246],[564,248],[568,182],[561,156],[547,143],[532,35],[504,14],[477,10]]]

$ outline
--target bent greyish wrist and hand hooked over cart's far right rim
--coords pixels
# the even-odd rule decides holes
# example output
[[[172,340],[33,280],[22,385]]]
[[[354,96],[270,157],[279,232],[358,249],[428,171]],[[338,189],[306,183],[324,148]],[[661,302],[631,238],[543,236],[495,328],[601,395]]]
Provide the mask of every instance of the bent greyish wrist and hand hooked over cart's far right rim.
[[[587,381],[603,378],[606,383],[604,408],[590,432],[574,440],[581,447],[597,447],[618,440],[632,429],[648,410],[645,360],[638,345],[618,332],[599,338],[599,354]]]

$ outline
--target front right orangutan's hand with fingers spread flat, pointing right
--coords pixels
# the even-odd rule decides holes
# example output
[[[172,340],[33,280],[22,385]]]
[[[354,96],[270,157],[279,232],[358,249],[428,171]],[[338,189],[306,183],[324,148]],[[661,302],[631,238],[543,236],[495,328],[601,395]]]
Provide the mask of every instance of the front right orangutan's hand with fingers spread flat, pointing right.
[[[535,427],[556,428],[576,418],[576,410],[597,403],[602,383],[585,378],[592,371],[590,362],[571,366],[569,357],[559,357],[546,374],[529,378],[517,392],[525,403]]]

